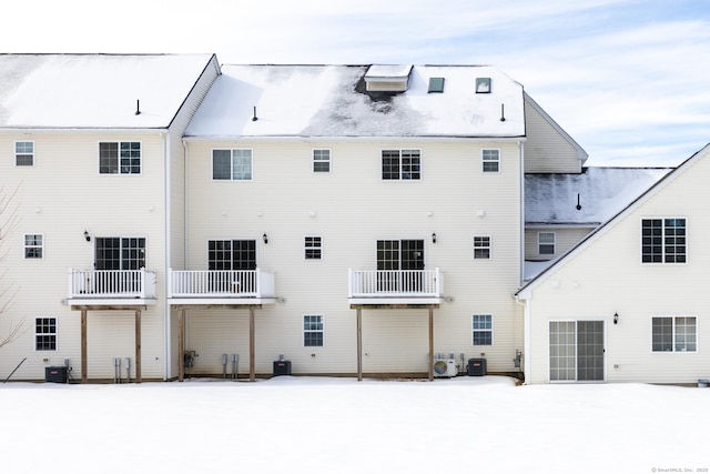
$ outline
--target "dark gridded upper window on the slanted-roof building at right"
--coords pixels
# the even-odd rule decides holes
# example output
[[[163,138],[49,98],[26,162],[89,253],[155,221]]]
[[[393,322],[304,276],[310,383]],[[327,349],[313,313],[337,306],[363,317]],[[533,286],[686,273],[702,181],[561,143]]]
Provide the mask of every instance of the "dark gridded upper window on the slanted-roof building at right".
[[[641,220],[641,262],[686,263],[686,220]]]

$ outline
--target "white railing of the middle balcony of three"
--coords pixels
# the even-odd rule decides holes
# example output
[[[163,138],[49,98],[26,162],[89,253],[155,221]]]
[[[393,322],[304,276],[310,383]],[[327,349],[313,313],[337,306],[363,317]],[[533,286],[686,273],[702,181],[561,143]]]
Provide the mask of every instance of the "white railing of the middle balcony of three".
[[[170,297],[274,297],[274,273],[256,270],[171,270]]]

